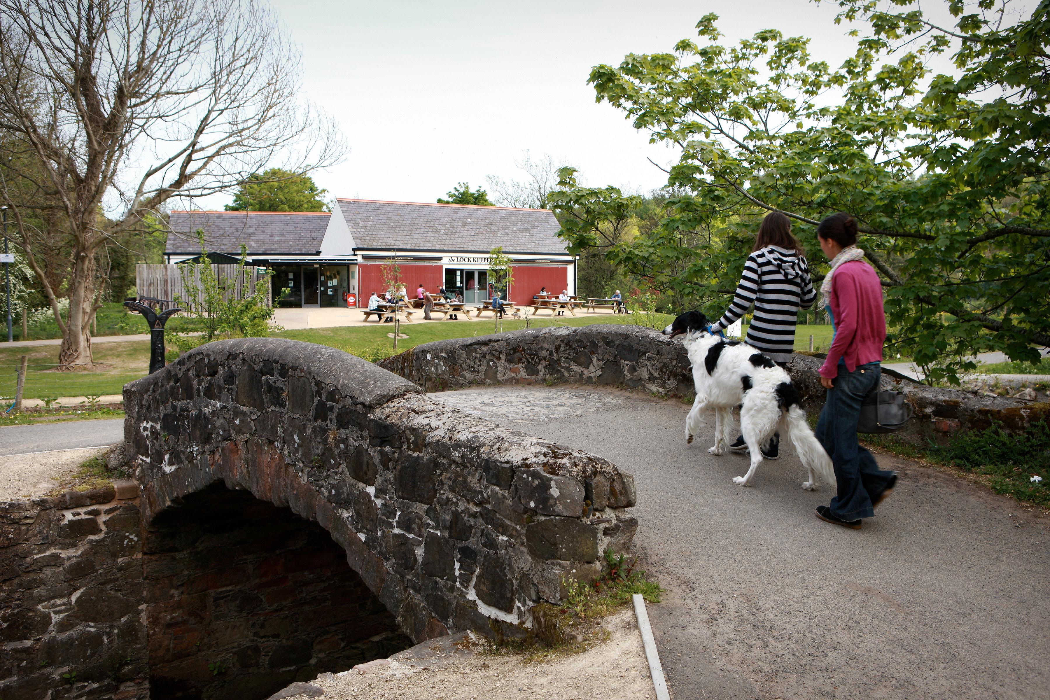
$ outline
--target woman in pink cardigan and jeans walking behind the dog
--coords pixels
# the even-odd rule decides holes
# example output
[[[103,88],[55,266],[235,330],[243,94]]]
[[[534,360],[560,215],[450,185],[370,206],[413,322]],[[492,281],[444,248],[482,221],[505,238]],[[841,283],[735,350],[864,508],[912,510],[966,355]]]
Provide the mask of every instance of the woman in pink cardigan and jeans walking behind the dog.
[[[832,269],[820,288],[820,304],[832,319],[834,338],[820,367],[827,400],[817,422],[817,440],[835,465],[838,494],[817,517],[860,529],[861,518],[889,495],[897,474],[879,469],[872,453],[857,442],[857,423],[864,399],[879,390],[886,317],[882,283],[857,248],[857,219],[838,213],[817,227],[817,238]]]

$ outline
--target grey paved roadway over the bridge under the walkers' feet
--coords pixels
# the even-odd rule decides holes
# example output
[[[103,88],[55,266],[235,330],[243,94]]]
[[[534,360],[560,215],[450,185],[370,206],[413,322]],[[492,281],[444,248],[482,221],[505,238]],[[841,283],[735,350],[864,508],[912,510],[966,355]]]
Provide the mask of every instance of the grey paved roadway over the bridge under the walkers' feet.
[[[687,445],[688,406],[614,389],[498,387],[433,398],[634,474],[635,552],[672,697],[1050,697],[1048,518],[892,455],[901,482],[862,530],[814,516],[790,447],[735,486],[741,455]],[[713,420],[709,421],[709,428]]]

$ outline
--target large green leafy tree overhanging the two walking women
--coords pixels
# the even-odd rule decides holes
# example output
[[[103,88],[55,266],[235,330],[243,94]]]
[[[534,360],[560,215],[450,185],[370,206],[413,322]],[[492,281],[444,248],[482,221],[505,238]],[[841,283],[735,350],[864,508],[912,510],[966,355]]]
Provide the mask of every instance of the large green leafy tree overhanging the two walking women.
[[[592,69],[600,100],[679,152],[660,225],[608,241],[608,257],[717,312],[765,212],[792,217],[815,251],[815,225],[846,211],[881,275],[892,349],[931,380],[958,381],[983,351],[1035,361],[1033,343],[1050,344],[1050,2],[1025,15],[950,0],[947,28],[912,0],[838,4],[865,36],[836,70],[773,29],[721,45],[714,15],[700,42]],[[958,75],[930,76],[929,57],[949,50]],[[566,188],[567,205],[589,196]],[[563,225],[574,250],[632,206],[618,192],[590,205]]]

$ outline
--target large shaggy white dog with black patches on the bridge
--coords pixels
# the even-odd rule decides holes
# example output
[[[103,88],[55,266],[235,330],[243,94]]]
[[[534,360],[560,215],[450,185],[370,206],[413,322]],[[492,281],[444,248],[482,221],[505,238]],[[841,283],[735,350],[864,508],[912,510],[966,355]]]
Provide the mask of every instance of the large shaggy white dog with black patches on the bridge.
[[[827,452],[805,422],[798,391],[788,373],[751,345],[724,340],[708,333],[708,319],[698,311],[689,311],[664,328],[665,336],[685,335],[682,341],[693,365],[696,400],[686,418],[686,442],[704,425],[700,411],[715,409],[715,446],[708,451],[723,454],[733,440],[733,408],[740,407],[740,427],[751,452],[751,468],[733,482],[749,486],[762,461],[760,445],[777,430],[791,436],[792,445],[808,470],[810,481],[802,488],[814,491],[819,474],[835,485],[835,470]]]

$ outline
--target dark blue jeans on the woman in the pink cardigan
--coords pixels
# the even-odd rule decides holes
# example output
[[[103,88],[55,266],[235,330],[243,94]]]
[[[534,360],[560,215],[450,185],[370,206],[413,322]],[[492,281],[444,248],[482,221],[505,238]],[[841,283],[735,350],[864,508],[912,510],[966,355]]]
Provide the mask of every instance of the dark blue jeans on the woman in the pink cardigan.
[[[872,453],[857,442],[857,422],[864,398],[879,388],[882,367],[878,362],[862,364],[853,372],[839,364],[835,388],[827,390],[824,409],[817,421],[817,440],[835,465],[838,495],[832,499],[832,514],[843,521],[872,517],[877,499],[894,472],[879,469]]]

